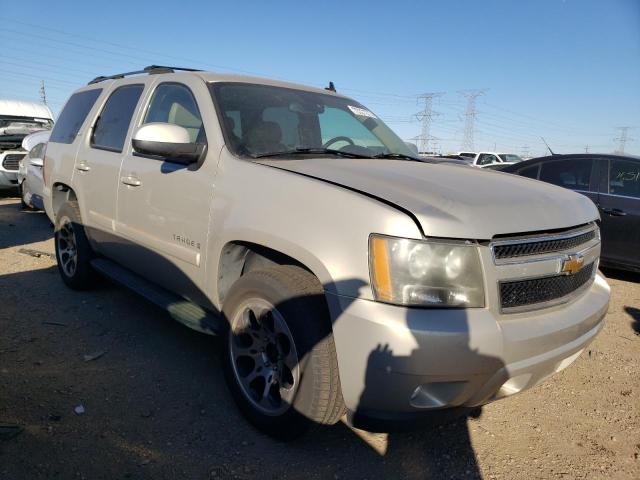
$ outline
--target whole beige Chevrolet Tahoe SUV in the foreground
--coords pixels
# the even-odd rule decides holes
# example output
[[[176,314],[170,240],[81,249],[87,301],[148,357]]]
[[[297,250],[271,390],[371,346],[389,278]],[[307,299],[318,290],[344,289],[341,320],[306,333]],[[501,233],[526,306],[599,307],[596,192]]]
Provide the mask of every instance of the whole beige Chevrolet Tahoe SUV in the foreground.
[[[64,107],[44,180],[63,281],[106,275],[223,336],[235,400],[279,437],[523,391],[609,303],[589,199],[417,158],[333,89],[98,77]]]

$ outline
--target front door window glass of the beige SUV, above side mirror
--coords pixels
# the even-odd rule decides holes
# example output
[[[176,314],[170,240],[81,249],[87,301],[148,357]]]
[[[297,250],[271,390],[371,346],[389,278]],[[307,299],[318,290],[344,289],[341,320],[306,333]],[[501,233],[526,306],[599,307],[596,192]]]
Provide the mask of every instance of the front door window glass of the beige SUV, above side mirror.
[[[191,90],[179,83],[162,83],[153,92],[143,123],[152,122],[180,125],[189,132],[191,142],[205,142],[204,127],[196,99],[193,98]]]

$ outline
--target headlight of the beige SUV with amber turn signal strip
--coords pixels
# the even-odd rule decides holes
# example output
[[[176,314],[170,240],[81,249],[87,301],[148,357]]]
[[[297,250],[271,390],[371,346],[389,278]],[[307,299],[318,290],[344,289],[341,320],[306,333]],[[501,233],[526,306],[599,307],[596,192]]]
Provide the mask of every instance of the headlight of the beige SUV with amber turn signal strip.
[[[374,296],[382,302],[484,307],[482,267],[475,245],[371,235],[369,269]]]

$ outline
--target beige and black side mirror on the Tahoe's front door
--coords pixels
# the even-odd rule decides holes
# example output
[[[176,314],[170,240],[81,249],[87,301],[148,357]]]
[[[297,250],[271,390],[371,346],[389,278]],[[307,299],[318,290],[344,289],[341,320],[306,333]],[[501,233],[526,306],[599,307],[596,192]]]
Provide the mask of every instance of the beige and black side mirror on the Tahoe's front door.
[[[185,164],[197,162],[204,151],[204,145],[191,142],[186,128],[171,123],[147,123],[136,130],[131,143],[138,153]]]

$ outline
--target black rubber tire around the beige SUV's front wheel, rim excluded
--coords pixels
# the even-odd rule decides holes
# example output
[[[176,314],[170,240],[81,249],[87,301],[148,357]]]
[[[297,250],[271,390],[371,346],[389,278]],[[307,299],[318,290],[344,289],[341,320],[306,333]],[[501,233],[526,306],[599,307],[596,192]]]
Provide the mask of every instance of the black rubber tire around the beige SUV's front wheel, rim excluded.
[[[238,333],[237,329],[234,332],[233,322],[247,308],[247,302],[250,304],[254,299],[275,307],[288,327],[297,353],[299,375],[297,386],[291,382],[295,388],[293,401],[284,402],[286,410],[277,414],[264,413],[255,405],[255,399],[250,400],[237,373],[238,364],[234,367],[239,357],[234,358],[231,342],[246,334]],[[312,425],[332,425],[340,420],[345,407],[338,361],[323,288],[315,276],[291,265],[251,271],[231,287],[223,314],[229,326],[222,341],[225,377],[240,410],[253,425],[270,436],[289,440]],[[257,345],[258,340],[255,341]],[[262,367],[254,368],[259,371]]]

